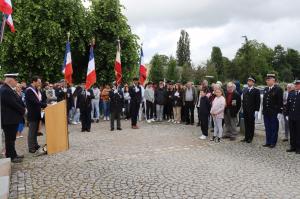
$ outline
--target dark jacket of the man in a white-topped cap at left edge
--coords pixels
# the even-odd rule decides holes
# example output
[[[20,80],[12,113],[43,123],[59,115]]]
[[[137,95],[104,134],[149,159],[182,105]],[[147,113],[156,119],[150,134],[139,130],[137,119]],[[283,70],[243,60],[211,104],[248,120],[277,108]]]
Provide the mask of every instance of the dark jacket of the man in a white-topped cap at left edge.
[[[21,97],[7,84],[0,88],[2,125],[19,124],[23,121],[25,106]]]

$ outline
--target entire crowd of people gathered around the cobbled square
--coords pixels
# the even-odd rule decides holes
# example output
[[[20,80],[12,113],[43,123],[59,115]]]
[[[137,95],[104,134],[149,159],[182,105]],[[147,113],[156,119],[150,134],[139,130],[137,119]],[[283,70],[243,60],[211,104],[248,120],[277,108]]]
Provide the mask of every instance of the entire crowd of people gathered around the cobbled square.
[[[94,85],[86,89],[84,83],[78,86],[67,85],[64,81],[42,84],[39,77],[33,77],[29,85],[26,82],[19,84],[17,74],[7,74],[0,89],[5,155],[13,162],[22,161],[23,156],[16,153],[14,145],[16,137],[22,137],[25,119],[29,127],[28,151],[36,153],[40,148],[37,136],[43,135],[43,109],[64,99],[69,124],[81,124],[82,132],[90,132],[91,123],[100,121],[110,121],[111,131],[115,130],[116,121],[116,130],[122,130],[122,119],[131,119],[132,129],[138,129],[137,123],[141,120],[149,124],[163,121],[175,125],[197,123],[201,132],[199,138],[208,139],[209,127],[212,127],[210,140],[216,143],[221,139],[236,140],[239,125],[245,126],[245,137],[241,141],[251,143],[255,118],[262,106],[266,131],[263,146],[276,146],[279,122],[282,122],[284,141],[290,140],[291,147],[287,152],[300,154],[300,80],[288,84],[285,91],[274,74],[267,75],[264,90],[256,88],[255,83],[253,76],[242,88],[238,81],[226,84],[218,81],[209,85],[203,80],[194,85],[192,82],[161,80],[140,85],[139,79],[134,78],[132,83]]]

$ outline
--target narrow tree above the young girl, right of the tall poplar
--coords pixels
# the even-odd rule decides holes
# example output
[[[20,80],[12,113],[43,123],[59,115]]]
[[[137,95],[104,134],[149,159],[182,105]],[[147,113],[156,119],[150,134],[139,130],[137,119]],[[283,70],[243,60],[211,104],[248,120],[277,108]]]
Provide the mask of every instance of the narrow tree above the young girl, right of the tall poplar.
[[[211,52],[211,63],[215,65],[217,71],[217,79],[224,79],[224,64],[222,51],[219,47],[213,47]]]

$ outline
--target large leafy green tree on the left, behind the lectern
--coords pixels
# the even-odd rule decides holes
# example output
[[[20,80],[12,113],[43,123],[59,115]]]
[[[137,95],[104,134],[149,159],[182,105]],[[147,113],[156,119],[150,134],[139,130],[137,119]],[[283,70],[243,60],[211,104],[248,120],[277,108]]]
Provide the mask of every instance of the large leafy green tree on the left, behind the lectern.
[[[0,64],[24,79],[39,75],[45,80],[59,80],[63,78],[61,69],[70,31],[76,71],[82,67],[77,58],[85,53],[87,44],[85,13],[81,0],[15,0],[16,33],[6,29]]]

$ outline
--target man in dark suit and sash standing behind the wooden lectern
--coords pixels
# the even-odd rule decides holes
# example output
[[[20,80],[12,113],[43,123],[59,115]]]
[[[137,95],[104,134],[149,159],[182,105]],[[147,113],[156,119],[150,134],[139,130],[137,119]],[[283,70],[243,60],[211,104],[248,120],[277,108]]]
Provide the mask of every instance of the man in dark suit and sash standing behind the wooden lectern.
[[[41,121],[41,111],[42,108],[47,107],[47,104],[42,101],[42,94],[39,90],[41,85],[41,78],[35,76],[32,78],[31,85],[26,89],[25,93],[25,102],[28,111],[27,120],[29,123],[27,140],[29,153],[35,153],[40,148],[37,136]]]

